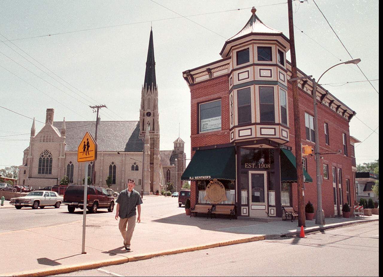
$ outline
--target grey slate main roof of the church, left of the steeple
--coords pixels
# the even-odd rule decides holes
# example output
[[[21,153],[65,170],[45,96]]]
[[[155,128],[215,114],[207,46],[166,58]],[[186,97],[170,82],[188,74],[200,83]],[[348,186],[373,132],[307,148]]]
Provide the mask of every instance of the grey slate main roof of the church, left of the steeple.
[[[62,121],[53,126],[61,128]],[[65,121],[65,151],[77,151],[85,132],[95,136],[96,121]],[[97,130],[98,151],[142,152],[139,121],[100,121]]]

